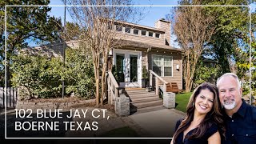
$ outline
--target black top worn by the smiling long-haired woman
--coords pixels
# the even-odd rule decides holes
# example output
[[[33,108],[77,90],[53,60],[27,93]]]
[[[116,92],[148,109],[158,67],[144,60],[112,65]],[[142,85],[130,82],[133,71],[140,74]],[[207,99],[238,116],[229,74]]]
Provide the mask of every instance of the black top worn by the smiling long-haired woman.
[[[178,126],[181,124],[182,119],[178,120],[178,122],[176,123],[175,126],[175,131],[178,129]],[[186,136],[189,136],[191,134],[193,134],[193,132],[195,130],[197,130],[198,128],[194,128],[193,130],[190,130]],[[184,143],[184,144],[200,144],[200,143],[208,143],[208,138],[210,138],[211,135],[215,134],[218,131],[218,126],[216,124],[213,123],[212,126],[210,126],[209,129],[206,130],[206,134],[202,135],[202,138],[184,138],[184,142],[182,142],[183,140],[183,132],[181,134],[178,134],[178,137],[175,141],[175,144],[179,144],[179,143]]]

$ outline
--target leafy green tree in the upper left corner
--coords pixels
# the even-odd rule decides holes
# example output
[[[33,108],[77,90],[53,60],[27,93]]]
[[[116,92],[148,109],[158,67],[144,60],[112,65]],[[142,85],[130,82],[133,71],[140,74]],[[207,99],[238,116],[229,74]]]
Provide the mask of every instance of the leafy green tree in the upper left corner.
[[[50,17],[47,12],[50,7],[50,0],[6,0],[0,2],[0,70],[3,71],[4,59],[6,57],[7,86],[10,86],[10,63],[11,57],[20,50],[28,46],[28,42],[49,43],[60,42],[58,37],[59,31],[62,30],[60,19]],[[6,5],[20,5],[6,7],[6,32],[4,34],[4,16]],[[38,5],[38,6],[21,6],[21,5]],[[40,6],[39,6],[40,5]],[[5,55],[5,36],[7,38]]]

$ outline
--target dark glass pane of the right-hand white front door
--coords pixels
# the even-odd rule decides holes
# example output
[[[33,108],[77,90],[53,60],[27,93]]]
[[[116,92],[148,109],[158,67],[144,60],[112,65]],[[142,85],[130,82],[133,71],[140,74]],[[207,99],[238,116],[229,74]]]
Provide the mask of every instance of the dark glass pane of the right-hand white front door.
[[[130,82],[138,82],[137,60],[137,55],[130,55]]]

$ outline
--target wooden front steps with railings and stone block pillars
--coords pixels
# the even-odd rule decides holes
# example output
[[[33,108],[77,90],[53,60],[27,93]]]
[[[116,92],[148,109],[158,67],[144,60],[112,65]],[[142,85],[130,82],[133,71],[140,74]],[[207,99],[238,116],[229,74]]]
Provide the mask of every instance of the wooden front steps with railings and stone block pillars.
[[[173,93],[174,91],[167,91],[172,90],[168,89],[168,86],[171,86],[170,83],[164,81],[152,70],[150,70],[150,75],[150,84],[153,81],[156,84],[152,86],[152,89],[128,88],[119,86],[112,72],[108,72],[108,102],[114,105],[116,114],[125,116],[175,107],[175,93]],[[163,82],[163,85],[160,85],[159,82]]]

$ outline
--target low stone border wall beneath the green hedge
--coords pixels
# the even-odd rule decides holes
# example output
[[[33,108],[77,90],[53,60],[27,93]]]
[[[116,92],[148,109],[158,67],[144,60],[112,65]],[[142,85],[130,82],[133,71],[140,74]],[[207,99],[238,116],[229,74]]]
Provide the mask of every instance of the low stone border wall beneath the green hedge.
[[[75,102],[24,102],[17,101],[16,109],[67,109],[73,106],[82,106],[95,102],[95,99]]]

